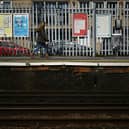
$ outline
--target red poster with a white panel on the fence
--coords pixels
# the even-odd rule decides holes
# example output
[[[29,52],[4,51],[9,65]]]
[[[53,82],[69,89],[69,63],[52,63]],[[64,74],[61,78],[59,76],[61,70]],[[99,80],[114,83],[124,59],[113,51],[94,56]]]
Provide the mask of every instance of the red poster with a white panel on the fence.
[[[73,36],[87,35],[87,20],[88,16],[84,13],[73,14]]]

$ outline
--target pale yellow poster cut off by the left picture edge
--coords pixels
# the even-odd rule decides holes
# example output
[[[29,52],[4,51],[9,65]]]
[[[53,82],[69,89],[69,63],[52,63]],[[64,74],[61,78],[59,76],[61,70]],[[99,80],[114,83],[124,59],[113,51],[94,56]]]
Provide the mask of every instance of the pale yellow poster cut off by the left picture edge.
[[[11,14],[0,14],[0,37],[12,37]]]

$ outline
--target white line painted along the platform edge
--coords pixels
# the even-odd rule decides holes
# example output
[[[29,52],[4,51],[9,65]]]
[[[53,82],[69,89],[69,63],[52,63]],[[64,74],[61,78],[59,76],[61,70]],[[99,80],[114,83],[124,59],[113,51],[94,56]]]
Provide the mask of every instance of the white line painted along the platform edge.
[[[129,63],[120,62],[0,62],[0,66],[119,66],[126,67]]]

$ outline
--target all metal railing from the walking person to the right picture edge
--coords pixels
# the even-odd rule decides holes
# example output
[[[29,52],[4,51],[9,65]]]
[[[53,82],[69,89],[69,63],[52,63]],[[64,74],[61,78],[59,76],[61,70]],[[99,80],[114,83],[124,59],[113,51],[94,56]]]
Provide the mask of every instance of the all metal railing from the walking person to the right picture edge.
[[[39,19],[37,8],[37,6],[34,8],[37,10],[37,13],[35,12],[35,18]],[[72,36],[72,15],[74,13],[85,13],[88,15],[88,35],[84,37]],[[94,17],[96,17],[97,14],[111,15],[110,37],[97,37],[96,33],[94,33],[96,31],[96,27],[94,27],[96,24]],[[60,51],[59,53],[63,56],[125,56],[129,54],[128,14],[128,5],[126,8],[120,8],[117,4],[107,4],[106,7],[98,4],[95,8],[89,6],[68,8],[66,6],[61,9],[50,6],[49,8],[41,9],[40,18],[47,23],[46,31],[48,33],[48,37],[51,42],[55,43],[53,49],[58,48]],[[121,19],[122,28],[115,28],[115,22]]]

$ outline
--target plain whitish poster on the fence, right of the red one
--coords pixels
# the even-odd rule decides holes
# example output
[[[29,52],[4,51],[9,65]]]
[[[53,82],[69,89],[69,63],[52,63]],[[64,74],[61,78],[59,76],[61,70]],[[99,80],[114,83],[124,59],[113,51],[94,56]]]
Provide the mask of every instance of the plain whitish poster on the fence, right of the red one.
[[[96,15],[96,36],[111,37],[111,15],[97,14]]]

